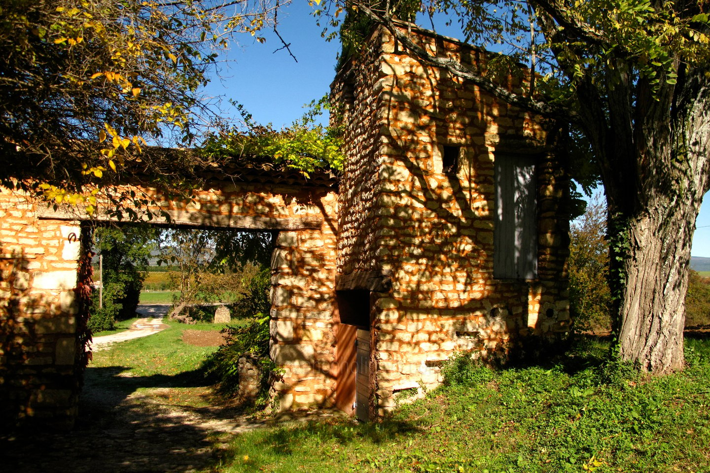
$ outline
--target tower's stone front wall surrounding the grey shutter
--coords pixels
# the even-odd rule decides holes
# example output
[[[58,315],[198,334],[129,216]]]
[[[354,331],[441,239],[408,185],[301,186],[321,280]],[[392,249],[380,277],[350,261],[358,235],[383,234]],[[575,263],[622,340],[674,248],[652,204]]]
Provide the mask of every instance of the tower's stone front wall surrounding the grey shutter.
[[[417,34],[436,55],[486,67],[485,52]],[[371,212],[378,218],[359,227],[365,235],[354,241],[372,238],[373,269],[392,274],[388,294],[372,293],[373,404],[382,413],[395,405],[398,391],[421,394],[422,387],[441,382],[442,360],[458,350],[504,358],[525,347],[517,342],[526,335],[566,330],[567,221],[559,212],[566,182],[539,118],[421,65],[384,30],[373,34],[368,47],[378,52],[378,68],[360,80],[375,94],[364,100],[378,108],[374,123],[363,118],[358,126],[372,127],[360,130],[367,135],[377,131],[378,149],[375,157],[356,148],[347,156],[356,169],[376,162],[379,192]],[[502,85],[525,87],[513,78]],[[364,105],[356,96],[359,107]],[[453,172],[444,169],[444,146],[457,149]],[[538,272],[530,281],[493,278],[494,163],[505,154],[537,160]],[[349,169],[341,184],[343,209],[368,199],[358,196],[361,178]],[[349,241],[342,242],[344,255],[356,253]],[[341,255],[339,274],[359,269],[348,262]]]

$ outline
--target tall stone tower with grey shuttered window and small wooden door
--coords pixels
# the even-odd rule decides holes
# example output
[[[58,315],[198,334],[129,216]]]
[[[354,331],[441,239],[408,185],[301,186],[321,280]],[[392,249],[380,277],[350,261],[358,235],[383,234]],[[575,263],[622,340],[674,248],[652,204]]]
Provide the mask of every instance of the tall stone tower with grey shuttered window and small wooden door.
[[[412,33],[470,67],[492,57]],[[437,386],[456,352],[503,360],[532,335],[567,330],[569,182],[544,121],[423,65],[384,29],[332,89],[347,123],[337,363],[357,372],[339,372],[337,405],[348,409],[354,390],[359,416],[381,414],[398,392]]]

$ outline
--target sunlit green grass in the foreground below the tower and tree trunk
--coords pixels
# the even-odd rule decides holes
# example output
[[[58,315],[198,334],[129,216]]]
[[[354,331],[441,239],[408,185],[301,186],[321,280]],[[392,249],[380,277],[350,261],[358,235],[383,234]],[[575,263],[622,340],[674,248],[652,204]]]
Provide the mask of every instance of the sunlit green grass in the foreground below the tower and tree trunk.
[[[381,423],[239,435],[219,472],[710,472],[710,341],[687,345],[692,366],[665,377],[600,369],[599,345],[556,366],[459,367],[461,384]]]

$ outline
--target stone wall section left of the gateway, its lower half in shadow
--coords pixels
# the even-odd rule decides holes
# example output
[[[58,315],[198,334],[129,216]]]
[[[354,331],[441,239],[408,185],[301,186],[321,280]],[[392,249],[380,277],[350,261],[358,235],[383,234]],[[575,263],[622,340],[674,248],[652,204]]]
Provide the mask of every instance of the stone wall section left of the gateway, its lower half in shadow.
[[[37,211],[28,196],[0,188],[0,418],[71,425],[81,230],[38,221]]]

